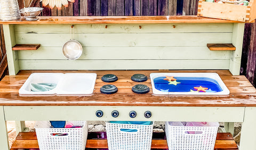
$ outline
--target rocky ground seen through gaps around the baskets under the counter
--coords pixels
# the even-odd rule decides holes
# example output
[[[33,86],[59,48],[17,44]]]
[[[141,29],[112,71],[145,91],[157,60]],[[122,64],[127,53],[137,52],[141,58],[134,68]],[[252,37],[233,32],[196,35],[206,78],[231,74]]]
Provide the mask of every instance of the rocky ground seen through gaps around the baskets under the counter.
[[[29,128],[29,131],[35,131],[34,129],[34,121],[26,121],[26,127]],[[220,122],[219,131],[223,130],[224,123]],[[241,135],[241,126],[242,123],[235,123],[235,131],[234,131],[234,140],[236,141],[237,145],[240,143],[240,135]],[[16,137],[16,129],[15,129],[15,121],[7,121],[7,130],[9,136],[9,145],[12,146],[15,137]],[[89,132],[100,132],[106,131],[105,129],[105,122],[103,121],[89,121],[88,124]],[[154,124],[153,132],[164,132],[164,122],[156,121]]]

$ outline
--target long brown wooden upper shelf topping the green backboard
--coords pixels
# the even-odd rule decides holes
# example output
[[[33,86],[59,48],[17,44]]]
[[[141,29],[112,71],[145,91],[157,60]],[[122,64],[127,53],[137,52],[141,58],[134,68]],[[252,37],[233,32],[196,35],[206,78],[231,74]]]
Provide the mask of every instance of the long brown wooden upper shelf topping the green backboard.
[[[0,21],[0,24],[71,24],[71,23],[234,23],[239,21],[204,18],[196,15],[172,16],[38,16],[37,21]]]

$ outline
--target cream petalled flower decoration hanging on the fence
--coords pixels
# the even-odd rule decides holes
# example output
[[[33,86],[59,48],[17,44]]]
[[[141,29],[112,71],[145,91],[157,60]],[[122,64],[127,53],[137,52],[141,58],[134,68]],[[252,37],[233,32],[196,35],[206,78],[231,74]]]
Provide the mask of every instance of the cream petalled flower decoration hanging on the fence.
[[[50,9],[53,9],[54,6],[57,7],[58,10],[61,9],[61,6],[68,7],[68,2],[74,3],[75,0],[40,0],[43,6],[47,6],[49,4]]]

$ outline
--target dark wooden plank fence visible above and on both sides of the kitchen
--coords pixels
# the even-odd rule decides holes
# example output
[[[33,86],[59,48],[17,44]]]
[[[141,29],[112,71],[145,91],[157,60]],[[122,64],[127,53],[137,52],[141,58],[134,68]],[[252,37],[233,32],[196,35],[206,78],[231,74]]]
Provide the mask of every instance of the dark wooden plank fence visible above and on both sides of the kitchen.
[[[196,15],[198,0],[75,0],[61,10],[42,6],[39,0],[18,0],[20,9],[24,6],[43,7],[43,16],[107,16],[107,15]],[[7,63],[2,26],[0,75],[5,74]],[[241,75],[256,86],[256,24],[246,23],[241,63]],[[4,59],[5,58],[5,59]],[[2,73],[3,72],[3,73]]]

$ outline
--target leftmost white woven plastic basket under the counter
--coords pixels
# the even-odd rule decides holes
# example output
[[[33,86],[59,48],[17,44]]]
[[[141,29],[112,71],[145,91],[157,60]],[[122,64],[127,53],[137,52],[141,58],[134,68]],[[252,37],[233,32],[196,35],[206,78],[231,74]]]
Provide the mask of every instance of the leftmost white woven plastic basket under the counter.
[[[40,150],[84,150],[87,140],[87,121],[68,121],[74,126],[82,128],[50,128],[49,121],[36,123],[36,136]],[[68,134],[66,136],[53,136],[51,134]]]

